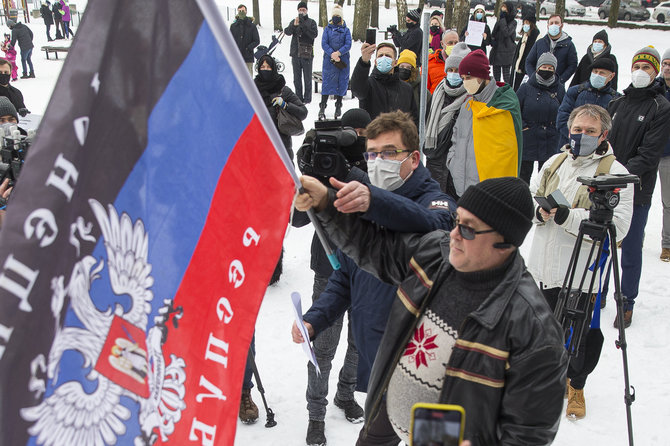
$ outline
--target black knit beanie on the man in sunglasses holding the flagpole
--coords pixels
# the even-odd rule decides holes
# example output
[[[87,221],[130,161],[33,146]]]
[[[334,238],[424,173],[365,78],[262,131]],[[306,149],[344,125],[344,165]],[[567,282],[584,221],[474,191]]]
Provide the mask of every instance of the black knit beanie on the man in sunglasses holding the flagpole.
[[[466,189],[458,206],[491,226],[505,242],[521,246],[533,226],[533,199],[520,178],[490,178]]]

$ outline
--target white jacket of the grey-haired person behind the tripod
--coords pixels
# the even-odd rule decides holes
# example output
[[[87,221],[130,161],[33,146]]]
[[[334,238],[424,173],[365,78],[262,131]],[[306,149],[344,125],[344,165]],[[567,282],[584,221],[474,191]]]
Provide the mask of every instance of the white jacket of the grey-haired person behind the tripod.
[[[565,146],[563,150],[568,150],[569,146]],[[577,177],[586,176],[592,177],[601,158],[612,154],[612,147],[610,146],[605,154],[597,155],[595,153],[589,156],[579,156],[573,159],[572,155],[563,161],[563,163],[556,170],[559,177],[559,186],[561,193],[565,196],[569,203],[573,203],[577,190],[582,185],[577,181]],[[530,183],[530,192],[533,196],[540,187],[540,181],[544,175],[544,171],[549,169],[560,154],[554,155],[547,162],[544,163],[540,172],[534,175]],[[610,168],[611,174],[628,174],[628,170],[619,163],[614,161]],[[552,192],[552,191],[548,191]],[[619,205],[614,208],[613,222],[616,226],[617,239],[622,240],[630,226],[630,220],[633,215],[633,187],[629,186],[621,189]],[[579,225],[582,220],[589,217],[588,209],[570,209],[570,215],[562,225],[557,225],[553,219],[543,223],[538,221],[537,216],[533,218],[536,224],[535,236],[533,238],[533,245],[530,251],[530,258],[528,261],[528,269],[530,270],[535,280],[542,283],[543,288],[560,288],[563,286],[565,274],[570,264],[572,250],[577,240],[579,233]],[[582,248],[579,254],[579,263],[577,265],[577,274],[574,278],[574,286],[578,286],[581,281],[581,274],[584,271],[584,265],[591,249],[589,237],[584,238]],[[595,255],[595,254],[594,254]],[[584,289],[588,291],[588,286],[591,280],[591,274],[588,275],[584,281]],[[596,278],[595,286],[598,285]]]

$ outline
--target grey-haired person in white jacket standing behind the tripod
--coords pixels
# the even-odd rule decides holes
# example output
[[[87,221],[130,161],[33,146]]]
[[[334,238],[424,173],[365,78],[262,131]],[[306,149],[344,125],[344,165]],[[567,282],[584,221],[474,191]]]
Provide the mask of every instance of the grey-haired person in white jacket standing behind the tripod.
[[[551,309],[556,308],[558,294],[568,271],[573,247],[579,233],[582,220],[589,218],[588,187],[579,183],[577,177],[593,177],[601,174],[627,174],[628,170],[614,156],[607,136],[612,129],[612,120],[604,108],[587,104],[572,111],[568,119],[570,144],[562,148],[544,163],[538,175],[530,184],[534,196],[546,197],[555,190],[560,190],[571,208],[559,207],[546,211],[538,206],[535,209],[533,223],[537,225],[533,245],[530,251],[528,269],[533,277],[540,282],[542,294]],[[633,212],[633,188],[621,189],[619,205],[614,209],[612,219],[616,226],[618,240],[622,240]],[[617,240],[610,241],[616,246]],[[579,263],[576,271],[584,271],[589,257],[591,243],[582,244]],[[575,277],[573,283],[581,283],[582,277]],[[591,274],[584,281],[582,298],[590,298],[586,293],[590,284]],[[598,279],[596,278],[596,284]],[[594,293],[597,290],[594,289]],[[591,315],[587,315],[587,326]],[[590,371],[584,370],[584,359],[589,355],[599,355],[600,351],[587,352],[585,342],[587,330],[582,334],[579,355],[570,361],[568,368],[568,407],[566,416],[580,419],[586,415],[584,401],[584,385]]]

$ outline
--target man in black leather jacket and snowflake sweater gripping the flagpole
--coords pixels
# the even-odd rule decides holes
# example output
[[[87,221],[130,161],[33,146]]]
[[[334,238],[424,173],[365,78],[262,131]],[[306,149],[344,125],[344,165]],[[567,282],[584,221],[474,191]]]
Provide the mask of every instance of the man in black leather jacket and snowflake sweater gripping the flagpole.
[[[551,443],[567,354],[518,253],[533,215],[522,180],[471,186],[454,229],[427,235],[380,230],[338,212],[346,196],[307,177],[302,184],[296,207],[313,206],[345,254],[398,285],[368,383],[366,443],[393,444],[393,433],[407,441],[417,402],[463,406],[473,446]]]

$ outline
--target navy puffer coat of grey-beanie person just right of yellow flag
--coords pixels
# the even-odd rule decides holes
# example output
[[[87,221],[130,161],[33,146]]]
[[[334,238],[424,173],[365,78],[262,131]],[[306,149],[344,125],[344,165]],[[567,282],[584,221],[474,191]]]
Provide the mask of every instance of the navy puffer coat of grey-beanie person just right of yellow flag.
[[[540,166],[558,151],[556,115],[565,95],[565,87],[555,77],[548,87],[537,83],[531,72],[528,82],[516,92],[523,122],[523,160],[539,161]]]

